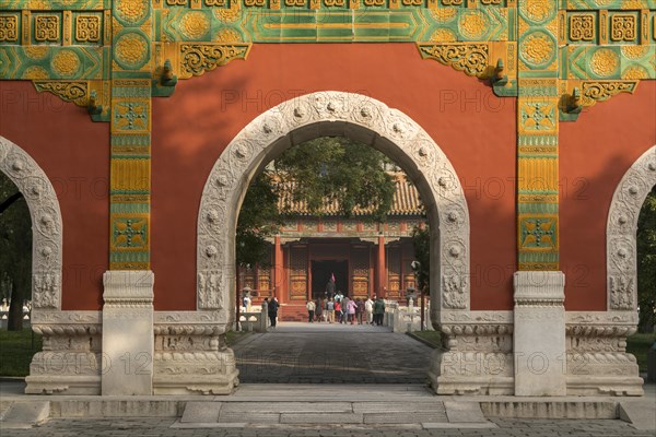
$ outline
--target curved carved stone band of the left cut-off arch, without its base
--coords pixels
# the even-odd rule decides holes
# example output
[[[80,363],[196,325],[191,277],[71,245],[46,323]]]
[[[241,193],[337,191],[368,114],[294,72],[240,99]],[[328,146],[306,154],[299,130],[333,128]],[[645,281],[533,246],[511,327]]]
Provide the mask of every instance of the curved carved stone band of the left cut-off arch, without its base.
[[[32,307],[61,309],[62,221],[57,193],[38,164],[0,137],[0,172],[25,197],[32,218]]]

